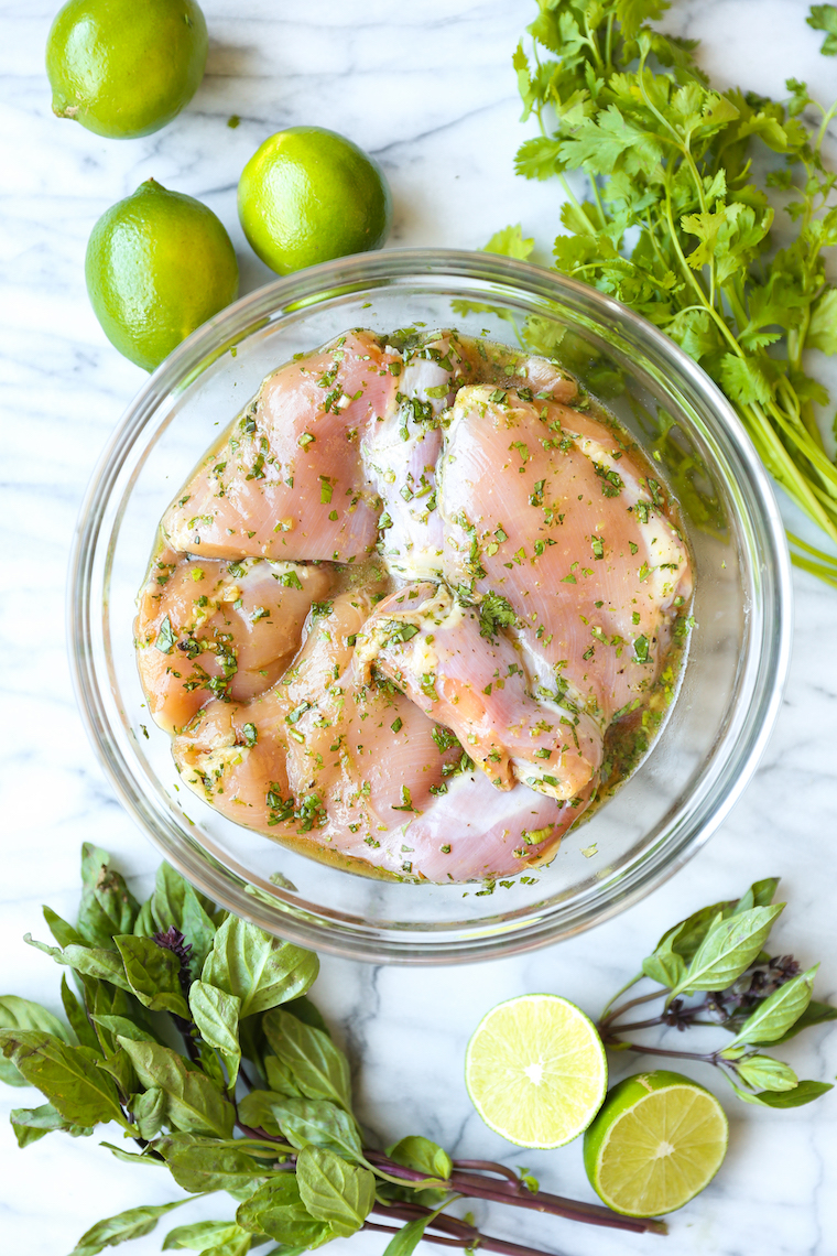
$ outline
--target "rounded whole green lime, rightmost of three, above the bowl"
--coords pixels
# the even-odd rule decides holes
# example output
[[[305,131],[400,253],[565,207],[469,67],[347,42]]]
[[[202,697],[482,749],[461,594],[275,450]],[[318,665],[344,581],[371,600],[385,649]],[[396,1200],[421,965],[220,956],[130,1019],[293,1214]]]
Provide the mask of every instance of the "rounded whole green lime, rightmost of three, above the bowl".
[[[389,185],[376,161],[321,127],[266,139],[238,181],[245,235],[280,275],[380,249],[392,226]]]

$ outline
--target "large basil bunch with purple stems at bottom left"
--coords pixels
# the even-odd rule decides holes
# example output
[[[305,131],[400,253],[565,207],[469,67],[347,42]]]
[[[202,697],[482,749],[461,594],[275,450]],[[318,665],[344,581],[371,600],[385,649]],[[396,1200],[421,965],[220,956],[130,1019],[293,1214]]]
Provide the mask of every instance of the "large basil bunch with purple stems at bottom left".
[[[61,978],[65,1021],[0,997],[0,1079],[46,1100],[15,1109],[11,1124],[20,1147],[112,1124],[127,1145],[103,1147],[171,1173],[186,1193],[99,1221],[72,1256],[147,1235],[173,1208],[215,1193],[221,1218],[177,1226],[164,1251],[246,1256],[272,1240],[267,1256],[300,1256],[371,1230],[389,1236],[388,1256],[410,1256],[422,1238],[543,1256],[444,1211],[466,1197],[665,1232],[659,1221],[541,1191],[525,1169],[452,1161],[422,1135],[385,1153],[369,1147],[349,1061],[306,997],[315,955],[216,908],[166,864],[142,904],[95,847],[83,848],[82,879],[75,924],[44,908],[58,945],[26,936],[74,978],[78,992]]]

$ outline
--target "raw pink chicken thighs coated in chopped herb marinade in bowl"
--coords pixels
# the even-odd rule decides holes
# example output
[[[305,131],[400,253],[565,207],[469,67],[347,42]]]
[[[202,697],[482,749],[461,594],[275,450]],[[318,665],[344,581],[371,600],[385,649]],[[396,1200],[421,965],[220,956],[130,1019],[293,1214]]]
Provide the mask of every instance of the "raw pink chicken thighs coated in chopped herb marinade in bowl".
[[[203,460],[162,521],[139,673],[228,819],[368,875],[491,880],[595,799],[690,560],[663,485],[553,362],[393,342],[346,332],[282,367]]]

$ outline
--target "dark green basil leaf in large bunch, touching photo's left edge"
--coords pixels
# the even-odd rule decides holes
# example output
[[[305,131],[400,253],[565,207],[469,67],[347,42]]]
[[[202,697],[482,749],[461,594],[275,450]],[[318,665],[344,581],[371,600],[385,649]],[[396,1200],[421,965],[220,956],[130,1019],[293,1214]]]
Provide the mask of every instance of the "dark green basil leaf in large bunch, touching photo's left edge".
[[[119,1096],[107,1073],[85,1046],[68,1046],[38,1030],[0,1030],[0,1049],[11,1056],[26,1081],[74,1125],[118,1120],[127,1127]]]

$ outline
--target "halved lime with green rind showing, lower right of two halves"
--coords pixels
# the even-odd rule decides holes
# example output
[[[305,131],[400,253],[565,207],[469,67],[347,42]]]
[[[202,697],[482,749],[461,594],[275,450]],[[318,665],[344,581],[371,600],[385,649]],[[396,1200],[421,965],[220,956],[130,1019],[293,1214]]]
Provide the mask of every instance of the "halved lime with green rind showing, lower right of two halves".
[[[727,1153],[714,1095],[679,1073],[639,1073],[614,1086],[585,1134],[594,1191],[616,1212],[658,1217],[693,1199]]]

